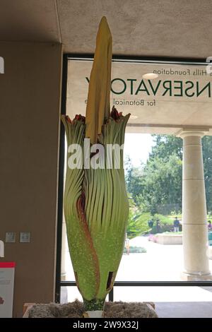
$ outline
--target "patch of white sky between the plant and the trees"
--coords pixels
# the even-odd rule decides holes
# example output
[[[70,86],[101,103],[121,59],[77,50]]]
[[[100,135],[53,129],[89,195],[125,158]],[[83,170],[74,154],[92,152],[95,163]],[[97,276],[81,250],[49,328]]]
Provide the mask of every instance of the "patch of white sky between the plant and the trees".
[[[129,155],[134,167],[146,162],[153,146],[153,137],[150,134],[125,134],[124,158]]]

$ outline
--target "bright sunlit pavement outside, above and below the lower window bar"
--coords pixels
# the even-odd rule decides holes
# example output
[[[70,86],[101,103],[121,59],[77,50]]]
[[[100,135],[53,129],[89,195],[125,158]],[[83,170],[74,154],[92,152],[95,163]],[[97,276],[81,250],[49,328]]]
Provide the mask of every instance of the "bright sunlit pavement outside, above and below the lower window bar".
[[[116,280],[134,281],[180,281],[183,270],[182,245],[163,245],[148,241],[148,237],[130,240],[131,246],[145,247],[142,254],[124,254]],[[212,260],[210,267],[212,271]],[[73,269],[66,251],[66,280],[74,280]],[[67,300],[81,300],[76,287],[67,287]],[[114,287],[114,300],[153,302],[211,302],[212,292],[202,287]],[[66,301],[65,301],[66,302]],[[212,305],[212,304],[211,304]],[[212,307],[211,316],[212,316]],[[208,307],[207,307],[208,308]],[[172,312],[170,312],[170,315]]]

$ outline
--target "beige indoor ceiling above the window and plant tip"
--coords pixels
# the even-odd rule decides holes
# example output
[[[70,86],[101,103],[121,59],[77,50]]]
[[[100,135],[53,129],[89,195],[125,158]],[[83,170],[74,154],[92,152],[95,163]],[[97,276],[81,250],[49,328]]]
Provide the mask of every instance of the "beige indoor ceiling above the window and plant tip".
[[[113,54],[212,56],[211,0],[0,0],[0,40],[62,42],[64,52],[93,53],[106,16]]]

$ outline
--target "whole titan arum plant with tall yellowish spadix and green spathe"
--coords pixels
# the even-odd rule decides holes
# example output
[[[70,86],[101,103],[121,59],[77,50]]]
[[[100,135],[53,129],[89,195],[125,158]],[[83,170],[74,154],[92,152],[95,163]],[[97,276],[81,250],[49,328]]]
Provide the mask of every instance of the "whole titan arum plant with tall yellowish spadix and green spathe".
[[[84,317],[104,316],[105,298],[112,289],[124,249],[129,203],[123,168],[123,150],[108,152],[107,145],[124,143],[129,115],[112,107],[110,85],[112,35],[105,17],[98,30],[90,73],[86,117],[71,121],[62,116],[68,146],[64,214],[76,285],[83,297]],[[85,138],[90,138],[87,153]],[[91,167],[99,157],[96,143],[104,148],[103,167]],[[82,151],[83,167],[69,167],[69,146]],[[88,158],[85,155],[88,155]],[[83,157],[82,157],[83,156]],[[80,158],[80,159],[81,159]],[[108,167],[108,158],[110,167]],[[115,161],[120,158],[120,167]],[[85,167],[86,165],[86,167]],[[89,166],[88,166],[89,165]]]

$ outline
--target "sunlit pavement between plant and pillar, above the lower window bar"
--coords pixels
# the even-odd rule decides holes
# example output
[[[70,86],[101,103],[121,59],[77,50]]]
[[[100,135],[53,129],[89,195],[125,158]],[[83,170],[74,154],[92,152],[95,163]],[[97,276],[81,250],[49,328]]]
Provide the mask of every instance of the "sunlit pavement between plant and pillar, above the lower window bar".
[[[182,272],[182,245],[163,245],[148,241],[148,237],[130,240],[134,247],[144,247],[146,253],[124,254],[116,280],[179,281]]]

